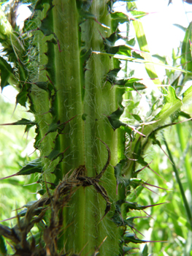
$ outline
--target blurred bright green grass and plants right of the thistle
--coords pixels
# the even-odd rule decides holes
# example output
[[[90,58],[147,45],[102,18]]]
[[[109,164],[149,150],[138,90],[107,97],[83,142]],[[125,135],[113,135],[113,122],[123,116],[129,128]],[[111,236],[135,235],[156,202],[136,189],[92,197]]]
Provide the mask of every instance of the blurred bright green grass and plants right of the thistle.
[[[167,56],[153,55],[153,58],[158,59],[160,63],[172,65],[172,67],[183,67],[185,70],[191,69],[191,26],[189,23],[188,28],[180,27],[185,31],[183,42],[177,48],[177,52],[172,50],[172,59]],[[164,88],[167,85],[172,86],[177,97],[182,99],[182,94],[191,86],[191,75],[185,75],[173,69],[166,69],[164,80],[162,80],[161,93],[166,93]],[[164,87],[165,86],[165,87]],[[139,97],[137,95],[137,97]],[[148,105],[155,103],[157,96],[153,91],[150,93],[150,99],[145,97],[145,108],[150,109]],[[134,101],[135,102],[135,101]],[[143,104],[143,102],[142,102]],[[160,173],[163,178],[157,176],[155,173],[147,170],[142,171],[139,178],[158,187],[165,187],[168,191],[159,191],[153,189],[153,192],[142,188],[138,192],[131,192],[128,197],[129,201],[134,202],[138,197],[138,203],[141,205],[153,205],[155,203],[164,203],[160,206],[147,208],[149,217],[147,219],[138,219],[137,228],[139,231],[143,230],[146,240],[151,241],[165,241],[164,243],[150,243],[148,244],[148,252],[153,255],[192,255],[192,175],[191,175],[191,153],[192,153],[192,140],[191,140],[191,120],[185,121],[186,118],[191,118],[192,113],[191,102],[180,111],[175,112],[168,121],[169,123],[177,123],[173,126],[161,129],[161,132],[156,136],[156,141],[153,147],[147,151],[146,161],[151,163],[151,168]],[[134,114],[139,115],[138,108]],[[156,142],[155,141],[155,142]],[[160,148],[161,146],[161,148]],[[166,152],[166,154],[164,153]],[[145,192],[143,192],[145,189]],[[133,215],[131,215],[133,216]],[[141,216],[146,216],[141,211]],[[141,255],[145,255],[143,252]],[[146,254],[147,255],[147,254]]]

